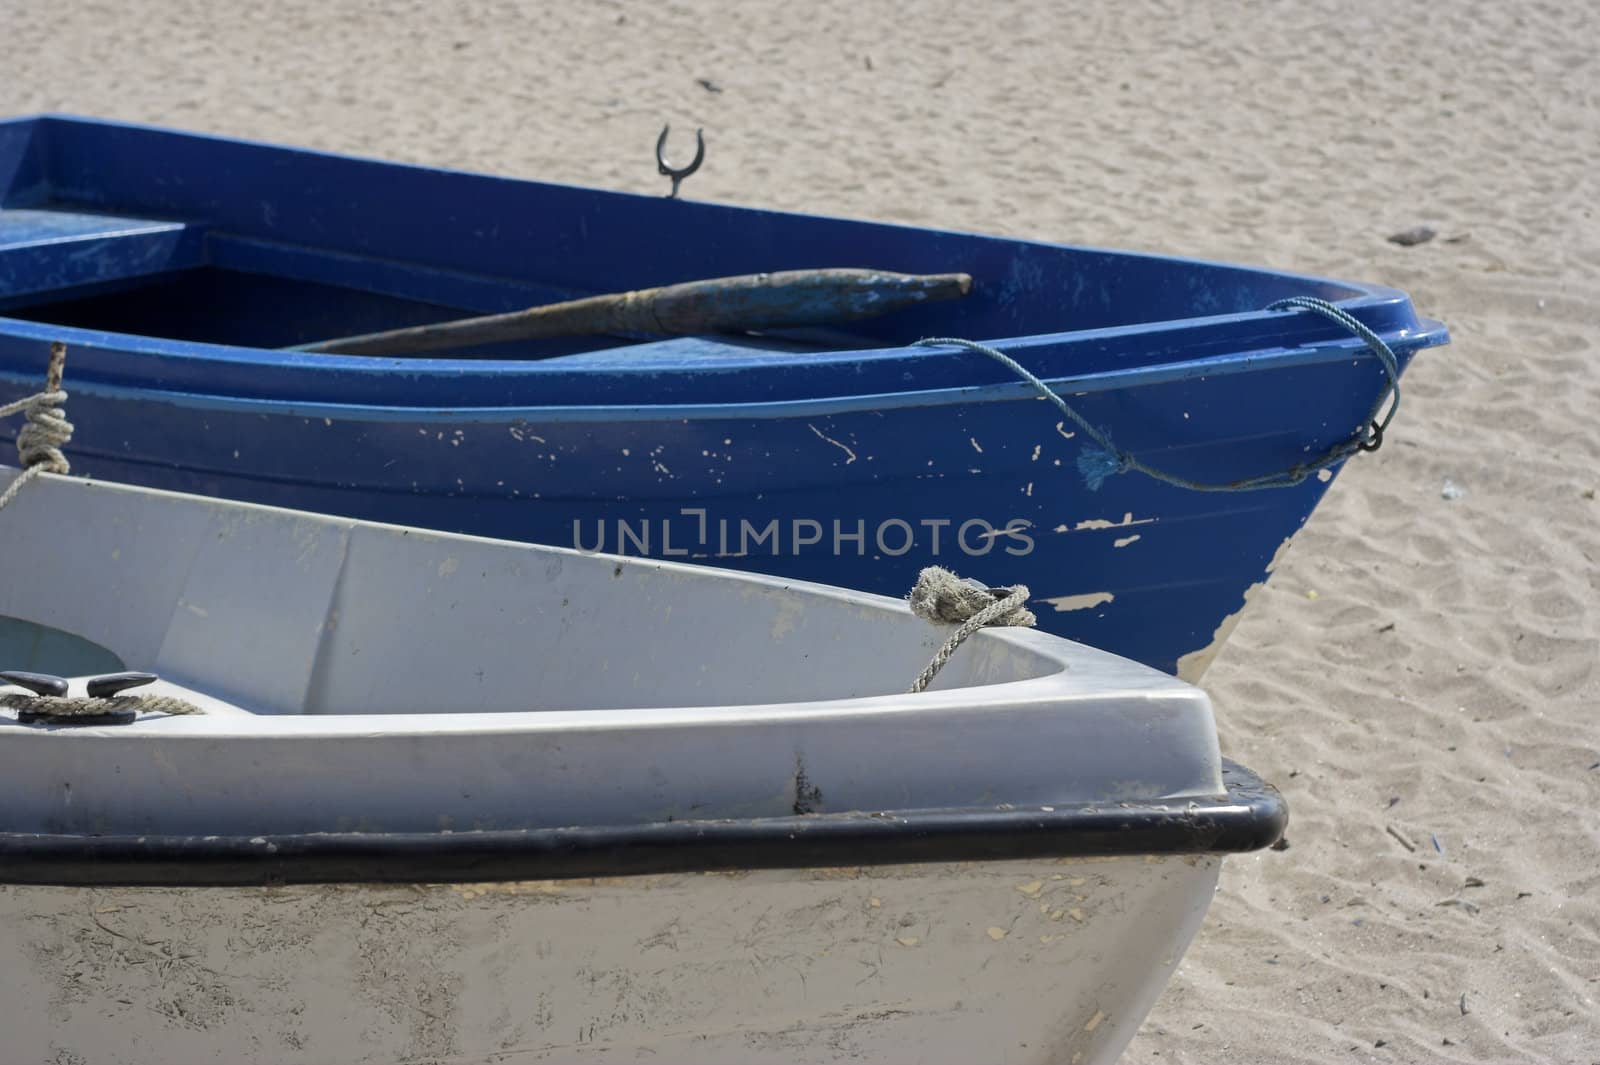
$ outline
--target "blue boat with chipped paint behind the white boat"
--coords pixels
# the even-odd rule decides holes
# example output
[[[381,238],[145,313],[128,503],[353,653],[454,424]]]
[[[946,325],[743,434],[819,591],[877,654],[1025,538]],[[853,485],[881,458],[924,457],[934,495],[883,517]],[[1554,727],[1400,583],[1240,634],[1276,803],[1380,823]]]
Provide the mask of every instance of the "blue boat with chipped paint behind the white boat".
[[[973,291],[760,334],[285,350],[830,267]],[[1195,676],[1446,333],[1378,285],[3,122],[0,401],[58,341],[75,473],[896,596],[938,563]]]

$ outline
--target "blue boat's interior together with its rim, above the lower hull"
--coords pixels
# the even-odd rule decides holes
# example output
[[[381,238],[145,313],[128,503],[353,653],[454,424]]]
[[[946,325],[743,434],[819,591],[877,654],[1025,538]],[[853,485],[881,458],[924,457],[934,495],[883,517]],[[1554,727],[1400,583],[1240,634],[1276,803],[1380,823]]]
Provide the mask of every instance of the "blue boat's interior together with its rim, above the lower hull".
[[[866,261],[864,261],[866,259]],[[974,291],[843,331],[574,337],[363,358],[334,336],[768,270],[966,272]],[[1006,373],[907,345],[1011,339],[1046,377],[1347,341],[1285,296],[1413,329],[1392,289],[1238,265],[784,214],[334,157],[62,117],[0,122],[0,317],[61,336],[80,379],[248,398],[389,403],[419,379],[496,405],[749,403],[971,389]],[[1386,318],[1386,315],[1389,315]],[[1394,318],[1394,320],[1389,320]],[[29,331],[26,323],[40,329]],[[62,329],[74,333],[62,334]],[[115,344],[110,337],[115,337]],[[150,344],[141,339],[149,337]],[[1163,339],[1165,337],[1165,339]],[[96,349],[117,347],[98,361]],[[259,374],[272,365],[270,381]],[[408,381],[392,371],[403,366]]]

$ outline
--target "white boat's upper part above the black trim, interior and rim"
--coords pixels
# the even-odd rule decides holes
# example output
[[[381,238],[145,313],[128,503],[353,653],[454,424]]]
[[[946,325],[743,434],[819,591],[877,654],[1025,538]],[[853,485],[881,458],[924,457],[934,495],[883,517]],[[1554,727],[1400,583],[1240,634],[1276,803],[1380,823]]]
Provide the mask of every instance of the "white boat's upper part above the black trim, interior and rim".
[[[162,680],[128,694],[203,710],[74,724],[8,689],[14,832],[435,832],[1221,790],[1198,689],[990,628],[909,696],[949,628],[882,596],[54,477],[6,509],[0,547],[0,668],[70,675],[72,696],[88,673],[147,670]]]

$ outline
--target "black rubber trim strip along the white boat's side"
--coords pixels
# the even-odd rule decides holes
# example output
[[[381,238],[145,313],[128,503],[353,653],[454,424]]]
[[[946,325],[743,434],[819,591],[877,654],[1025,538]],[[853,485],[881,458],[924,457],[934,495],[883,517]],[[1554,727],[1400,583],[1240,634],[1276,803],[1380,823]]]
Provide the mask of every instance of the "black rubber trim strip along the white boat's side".
[[[1222,763],[1224,798],[917,809],[459,833],[78,836],[0,833],[0,883],[222,888],[568,880],[731,868],[1226,854],[1277,843],[1277,790]]]

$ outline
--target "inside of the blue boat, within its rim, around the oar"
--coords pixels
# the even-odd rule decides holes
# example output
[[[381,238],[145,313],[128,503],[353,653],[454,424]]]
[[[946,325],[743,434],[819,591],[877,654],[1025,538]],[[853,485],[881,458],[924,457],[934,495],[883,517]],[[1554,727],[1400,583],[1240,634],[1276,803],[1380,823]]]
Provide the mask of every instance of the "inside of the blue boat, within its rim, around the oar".
[[[637,248],[648,233],[646,251]],[[862,261],[864,257],[870,261]],[[840,329],[515,341],[451,352],[653,366],[896,349],[1350,299],[1315,278],[664,200],[70,118],[0,123],[0,317],[280,349],[768,270],[968,272],[971,296]],[[618,361],[626,358],[626,361]]]

